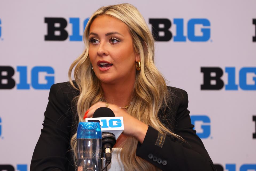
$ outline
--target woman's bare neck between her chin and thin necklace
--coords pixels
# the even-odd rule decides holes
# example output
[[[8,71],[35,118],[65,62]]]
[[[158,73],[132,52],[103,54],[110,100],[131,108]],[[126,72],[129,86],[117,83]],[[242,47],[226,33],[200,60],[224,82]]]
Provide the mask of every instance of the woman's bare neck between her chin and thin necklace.
[[[132,101],[134,84],[135,79],[134,81],[125,80],[113,84],[101,83],[101,87],[104,91],[104,98],[108,103],[124,107]]]

